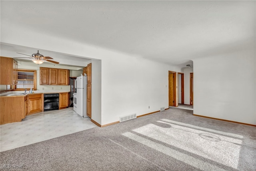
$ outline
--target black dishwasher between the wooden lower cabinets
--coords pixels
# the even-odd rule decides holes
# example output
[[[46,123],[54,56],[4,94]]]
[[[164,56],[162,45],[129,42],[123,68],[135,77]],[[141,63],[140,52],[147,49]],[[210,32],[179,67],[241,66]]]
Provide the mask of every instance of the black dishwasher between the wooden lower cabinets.
[[[44,111],[59,109],[59,93],[44,94]]]

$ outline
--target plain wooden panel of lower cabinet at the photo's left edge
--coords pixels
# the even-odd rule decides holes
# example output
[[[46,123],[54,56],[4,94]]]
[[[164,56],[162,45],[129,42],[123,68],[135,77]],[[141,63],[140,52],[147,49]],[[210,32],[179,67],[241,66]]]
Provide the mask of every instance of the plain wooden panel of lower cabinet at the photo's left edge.
[[[25,115],[25,97],[0,97],[0,124],[20,122]]]

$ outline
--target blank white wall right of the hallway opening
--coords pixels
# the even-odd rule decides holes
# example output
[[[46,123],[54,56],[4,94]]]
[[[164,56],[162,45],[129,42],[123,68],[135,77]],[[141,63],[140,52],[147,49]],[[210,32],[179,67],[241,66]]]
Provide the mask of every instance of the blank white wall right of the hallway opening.
[[[255,50],[193,61],[194,114],[255,125]]]

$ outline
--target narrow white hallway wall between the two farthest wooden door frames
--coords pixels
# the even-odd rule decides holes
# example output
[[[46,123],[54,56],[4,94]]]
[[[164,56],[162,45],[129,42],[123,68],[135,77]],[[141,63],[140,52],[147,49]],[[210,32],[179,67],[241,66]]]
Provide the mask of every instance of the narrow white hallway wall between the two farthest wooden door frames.
[[[183,68],[184,73],[184,104],[190,105],[190,73],[193,72],[193,67]]]

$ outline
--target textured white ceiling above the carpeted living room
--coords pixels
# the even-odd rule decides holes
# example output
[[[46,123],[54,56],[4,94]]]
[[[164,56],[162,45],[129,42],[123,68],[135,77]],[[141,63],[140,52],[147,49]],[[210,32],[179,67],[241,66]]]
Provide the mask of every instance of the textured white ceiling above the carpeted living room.
[[[169,64],[255,48],[255,1],[0,3],[2,24],[11,21],[28,30]],[[14,52],[36,53],[26,47]]]

